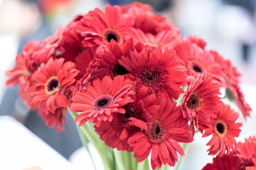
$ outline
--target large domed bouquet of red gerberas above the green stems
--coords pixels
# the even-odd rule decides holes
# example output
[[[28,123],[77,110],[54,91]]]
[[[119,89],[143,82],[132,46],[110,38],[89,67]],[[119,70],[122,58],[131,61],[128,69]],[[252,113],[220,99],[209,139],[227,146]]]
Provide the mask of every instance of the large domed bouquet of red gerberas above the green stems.
[[[148,5],[106,5],[30,41],[7,85],[19,84],[22,99],[49,127],[61,131],[69,107],[79,113],[74,123],[94,123],[109,147],[133,152],[139,162],[151,153],[153,169],[174,166],[177,153],[184,155],[179,142],[192,142],[195,130],[212,135],[209,155],[221,157],[233,153],[242,123],[220,88],[244,118],[251,108],[236,68],[205,46]]]

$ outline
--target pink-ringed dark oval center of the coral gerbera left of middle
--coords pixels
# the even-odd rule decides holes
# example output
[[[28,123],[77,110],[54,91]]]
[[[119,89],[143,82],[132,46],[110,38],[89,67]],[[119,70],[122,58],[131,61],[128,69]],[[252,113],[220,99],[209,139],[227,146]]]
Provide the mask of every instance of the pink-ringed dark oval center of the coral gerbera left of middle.
[[[93,102],[92,102],[92,107],[94,110],[101,110],[101,109],[107,109],[112,102],[114,101],[113,97],[110,95],[102,95],[97,97]]]

